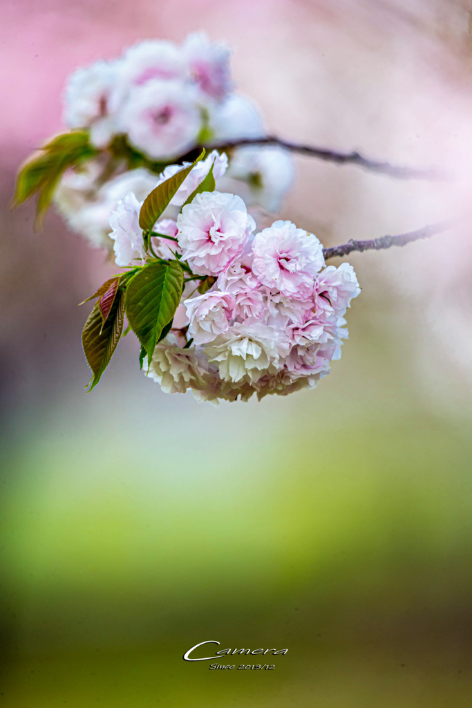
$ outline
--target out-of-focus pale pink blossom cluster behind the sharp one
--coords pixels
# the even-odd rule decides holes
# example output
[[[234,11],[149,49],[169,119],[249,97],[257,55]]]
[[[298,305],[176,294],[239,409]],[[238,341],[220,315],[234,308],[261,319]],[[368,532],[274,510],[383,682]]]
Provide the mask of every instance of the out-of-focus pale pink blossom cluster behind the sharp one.
[[[127,193],[144,199],[156,186],[151,162],[171,164],[198,144],[267,135],[258,106],[234,91],[229,58],[228,47],[193,33],[180,46],[140,42],[118,59],[71,75],[64,120],[73,130],[88,130],[99,151],[79,171],[67,171],[54,194],[71,229],[110,249],[108,215]],[[110,171],[107,151],[120,137],[144,156],[145,166],[127,169],[116,161]],[[260,210],[277,212],[293,176],[283,149],[238,147],[217,188],[241,195],[257,217]]]

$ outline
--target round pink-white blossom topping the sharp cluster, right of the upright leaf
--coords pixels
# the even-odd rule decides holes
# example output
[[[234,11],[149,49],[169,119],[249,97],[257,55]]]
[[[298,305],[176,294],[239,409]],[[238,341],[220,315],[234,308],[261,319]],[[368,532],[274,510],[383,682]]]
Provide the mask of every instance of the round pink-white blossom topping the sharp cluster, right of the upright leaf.
[[[240,197],[198,194],[177,217],[182,258],[197,275],[219,275],[243,252],[255,229]]]

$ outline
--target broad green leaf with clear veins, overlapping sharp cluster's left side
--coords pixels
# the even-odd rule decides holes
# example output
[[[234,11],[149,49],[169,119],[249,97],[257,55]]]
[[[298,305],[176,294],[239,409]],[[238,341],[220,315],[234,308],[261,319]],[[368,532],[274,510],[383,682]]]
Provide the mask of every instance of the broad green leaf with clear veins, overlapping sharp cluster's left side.
[[[144,265],[126,290],[126,314],[151,361],[156,344],[175,314],[183,290],[178,261]]]

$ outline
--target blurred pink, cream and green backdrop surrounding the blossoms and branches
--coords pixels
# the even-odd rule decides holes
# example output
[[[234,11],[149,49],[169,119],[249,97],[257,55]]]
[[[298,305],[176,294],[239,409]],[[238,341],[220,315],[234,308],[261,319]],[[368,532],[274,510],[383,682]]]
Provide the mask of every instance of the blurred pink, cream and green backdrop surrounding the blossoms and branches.
[[[0,6],[0,705],[460,708],[472,702],[469,0],[4,0]],[[110,265],[11,212],[64,81],[203,28],[282,137],[438,166],[395,181],[297,158],[282,216],[352,254],[362,295],[314,392],[198,404],[132,337],[91,395],[76,304]],[[271,672],[185,663],[289,649]],[[257,657],[255,657],[257,658]],[[221,663],[226,663],[222,661]]]

